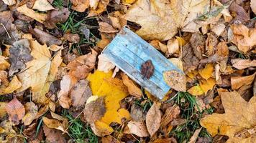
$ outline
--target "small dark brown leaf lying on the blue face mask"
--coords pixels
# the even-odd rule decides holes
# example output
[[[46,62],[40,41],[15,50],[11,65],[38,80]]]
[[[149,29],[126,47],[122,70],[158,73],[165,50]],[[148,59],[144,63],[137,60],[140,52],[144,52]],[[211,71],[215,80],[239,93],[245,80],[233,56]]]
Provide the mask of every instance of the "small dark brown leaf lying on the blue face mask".
[[[154,65],[152,64],[152,61],[149,59],[145,61],[140,67],[140,72],[143,76],[143,79],[146,77],[147,79],[150,79],[152,75],[154,74]]]

